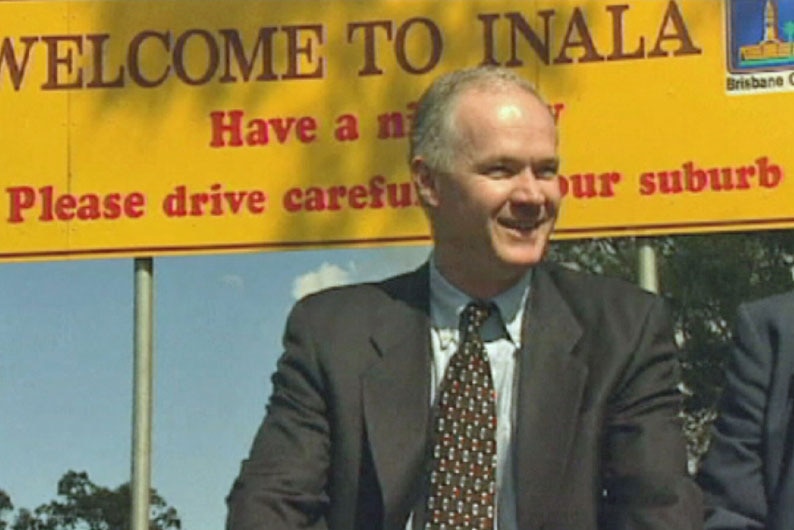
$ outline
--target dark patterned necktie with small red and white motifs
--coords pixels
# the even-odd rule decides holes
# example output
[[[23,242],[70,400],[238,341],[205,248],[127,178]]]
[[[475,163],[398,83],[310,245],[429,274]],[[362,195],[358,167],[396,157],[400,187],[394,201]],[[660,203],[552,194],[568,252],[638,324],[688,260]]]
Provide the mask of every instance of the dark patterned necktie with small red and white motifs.
[[[425,530],[492,530],[496,477],[496,399],[480,327],[490,305],[461,314],[462,339],[438,400]]]

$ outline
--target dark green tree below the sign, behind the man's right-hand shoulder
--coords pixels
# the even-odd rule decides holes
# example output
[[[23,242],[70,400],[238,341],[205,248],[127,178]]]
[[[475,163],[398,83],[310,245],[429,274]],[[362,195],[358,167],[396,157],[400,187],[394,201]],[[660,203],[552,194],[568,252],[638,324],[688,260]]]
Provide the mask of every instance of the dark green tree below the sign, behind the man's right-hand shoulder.
[[[670,305],[682,347],[685,428],[690,455],[708,445],[710,421],[724,384],[737,306],[790,289],[794,231],[710,234],[647,239],[659,262],[660,289]],[[550,258],[636,281],[635,238],[557,242]]]

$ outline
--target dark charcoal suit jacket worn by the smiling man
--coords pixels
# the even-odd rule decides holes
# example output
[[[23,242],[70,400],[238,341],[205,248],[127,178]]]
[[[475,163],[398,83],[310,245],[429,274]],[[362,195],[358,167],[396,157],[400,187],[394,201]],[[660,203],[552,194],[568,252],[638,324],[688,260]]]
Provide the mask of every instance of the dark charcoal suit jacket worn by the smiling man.
[[[430,445],[428,305],[425,266],[295,306],[228,529],[404,529]],[[522,530],[702,526],[662,306],[536,267],[517,367]]]

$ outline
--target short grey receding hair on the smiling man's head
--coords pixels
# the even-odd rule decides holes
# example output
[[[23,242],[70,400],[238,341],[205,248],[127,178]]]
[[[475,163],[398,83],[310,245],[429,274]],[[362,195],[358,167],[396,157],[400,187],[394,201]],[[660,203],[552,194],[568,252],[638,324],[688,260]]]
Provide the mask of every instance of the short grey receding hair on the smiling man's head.
[[[435,170],[449,170],[454,157],[456,129],[454,110],[458,97],[469,89],[519,88],[545,104],[535,87],[513,70],[477,66],[456,70],[437,78],[419,98],[411,125],[409,163],[421,156]]]

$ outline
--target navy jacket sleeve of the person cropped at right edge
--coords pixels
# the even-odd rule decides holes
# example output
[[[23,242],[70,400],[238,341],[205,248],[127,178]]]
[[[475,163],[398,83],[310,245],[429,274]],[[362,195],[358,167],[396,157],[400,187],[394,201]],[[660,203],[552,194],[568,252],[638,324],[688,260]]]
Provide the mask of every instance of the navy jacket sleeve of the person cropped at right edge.
[[[771,359],[769,337],[741,306],[719,416],[699,476],[709,529],[765,528],[761,451]]]

